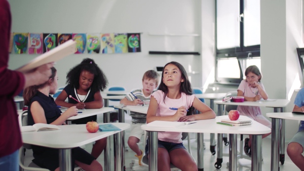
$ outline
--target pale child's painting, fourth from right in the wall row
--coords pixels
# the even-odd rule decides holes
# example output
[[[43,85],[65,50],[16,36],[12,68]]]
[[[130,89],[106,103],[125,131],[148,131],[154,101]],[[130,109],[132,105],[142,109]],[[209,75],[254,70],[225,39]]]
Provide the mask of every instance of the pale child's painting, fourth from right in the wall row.
[[[89,54],[99,54],[100,38],[100,33],[87,34],[87,48]]]

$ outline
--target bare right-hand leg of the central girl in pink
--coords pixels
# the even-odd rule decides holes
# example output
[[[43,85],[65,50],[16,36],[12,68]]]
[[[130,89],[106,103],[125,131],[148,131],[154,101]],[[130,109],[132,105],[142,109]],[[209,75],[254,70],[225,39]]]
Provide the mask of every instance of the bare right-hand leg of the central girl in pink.
[[[198,170],[197,164],[186,149],[174,149],[169,153],[169,155],[171,163],[174,164],[177,168],[186,171]]]

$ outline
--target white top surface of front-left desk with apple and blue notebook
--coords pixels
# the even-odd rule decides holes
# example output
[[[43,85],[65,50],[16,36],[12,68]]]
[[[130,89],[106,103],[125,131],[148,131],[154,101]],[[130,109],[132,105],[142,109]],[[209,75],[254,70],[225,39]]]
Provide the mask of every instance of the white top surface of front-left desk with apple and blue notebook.
[[[100,123],[105,124],[105,123]],[[112,123],[122,131],[129,123]],[[23,143],[50,148],[74,148],[119,133],[120,131],[89,133],[86,124],[59,125],[61,130],[21,133]]]

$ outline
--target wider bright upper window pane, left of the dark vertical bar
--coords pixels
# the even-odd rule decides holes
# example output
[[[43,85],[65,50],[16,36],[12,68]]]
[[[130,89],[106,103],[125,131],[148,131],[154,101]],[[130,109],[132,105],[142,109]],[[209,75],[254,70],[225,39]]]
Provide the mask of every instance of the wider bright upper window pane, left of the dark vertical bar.
[[[239,0],[217,0],[216,36],[217,49],[240,47]]]

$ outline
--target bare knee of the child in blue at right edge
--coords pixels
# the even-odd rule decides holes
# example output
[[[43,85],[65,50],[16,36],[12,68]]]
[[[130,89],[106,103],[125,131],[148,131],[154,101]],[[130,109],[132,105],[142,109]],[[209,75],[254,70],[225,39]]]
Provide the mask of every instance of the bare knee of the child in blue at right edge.
[[[287,146],[288,156],[300,170],[304,170],[304,156],[302,156],[302,152],[303,147],[298,143],[289,143]]]

